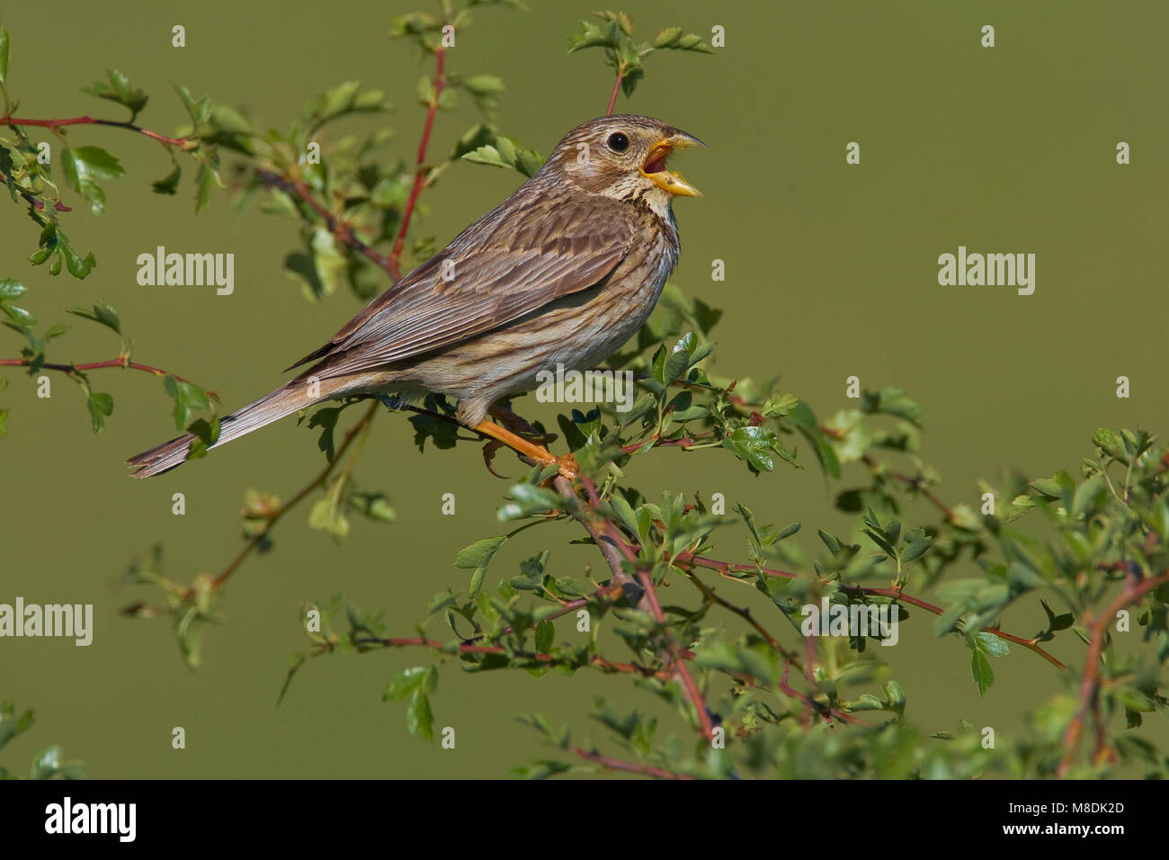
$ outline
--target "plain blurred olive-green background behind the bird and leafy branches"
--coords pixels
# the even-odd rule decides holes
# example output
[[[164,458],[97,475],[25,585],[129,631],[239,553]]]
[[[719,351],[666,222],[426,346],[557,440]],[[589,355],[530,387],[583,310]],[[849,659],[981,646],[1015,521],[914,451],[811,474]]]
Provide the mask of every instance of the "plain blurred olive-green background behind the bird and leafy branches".
[[[423,115],[414,90],[430,63],[390,42],[387,30],[394,15],[416,7],[208,0],[181,12],[148,2],[67,2],[48,12],[7,4],[0,25],[12,34],[11,91],[22,116],[120,117],[117,105],[79,92],[110,66],[152,95],[140,122],[162,131],[184,118],[172,81],[283,128],[311,95],[360,78],[397,105],[385,122],[399,133],[396,151],[411,158]],[[611,77],[596,51],[566,55],[566,37],[590,4],[532,7],[477,12],[449,62],[466,74],[500,75],[502,130],[546,154],[567,129],[603,112]],[[924,453],[941,470],[939,494],[950,503],[976,504],[976,480],[1004,468],[1035,476],[1074,470],[1098,426],[1169,426],[1161,43],[1169,6],[622,8],[643,37],[679,25],[708,40],[713,25],[726,28],[726,47],[711,56],[650,57],[632,99],[618,102],[618,110],[663,117],[710,146],[677,159],[706,197],[676,206],[683,255],[675,282],[727,311],[715,330],[719,373],[782,374],[784,390],[822,418],[850,407],[849,376],[866,388],[906,388],[926,405]],[[185,49],[171,47],[174,23],[187,28]],[[996,28],[992,49],[980,47],[984,23]],[[440,115],[436,151],[473,121],[465,99],[457,112]],[[366,121],[353,121],[352,129],[361,128]],[[0,274],[23,280],[27,304],[43,321],[63,322],[62,308],[105,298],[119,310],[137,360],[214,388],[235,408],[275,387],[282,367],[359,309],[350,294],[319,304],[302,297],[282,271],[298,245],[291,221],[255,208],[233,216],[223,193],[195,216],[192,170],[178,198],[150,192],[150,181],[170,171],[161,147],[113,129],[77,128],[70,139],[109,149],[127,176],[106,184],[105,215],[76,204],[67,218],[75,245],[97,253],[84,282],[30,268],[35,229],[21,207],[0,206]],[[859,166],[845,165],[850,140],[860,143]],[[1133,147],[1129,166],[1115,163],[1119,140]],[[518,181],[512,172],[456,165],[426,194],[416,235],[444,243]],[[235,295],[139,287],[134,259],[158,245],[234,252]],[[940,287],[938,255],[959,245],[1035,253],[1035,295]],[[714,259],[726,262],[725,282],[711,280]],[[0,344],[7,344],[0,355],[18,353],[15,335]],[[116,349],[98,326],[81,323],[51,357],[97,360]],[[1129,400],[1115,397],[1120,374],[1132,379]],[[291,495],[321,465],[316,434],[282,421],[165,477],[130,481],[123,459],[173,435],[160,381],[96,372],[115,412],[95,435],[64,377],[53,374],[53,397],[40,400],[27,377],[5,376],[12,385],[0,403],[13,414],[0,442],[0,601],[20,594],[92,603],[96,615],[88,648],[0,641],[0,697],[37,711],[34,730],[4,751],[9,768],[25,768],[35,749],[60,742],[95,777],[490,777],[545,752],[516,722],[518,713],[545,711],[580,734],[590,730],[586,714],[596,694],[652,707],[620,677],[586,672],[537,681],[523,673],[464,676],[450,667],[435,707],[437,724],[455,727],[457,748],[442,750],[407,735],[403,704],[380,702],[403,667],[433,660],[420,651],[312,661],[276,707],[289,658],[305,645],[302,601],[344,591],[362,607],[383,607],[389,629],[410,635],[431,594],[465,586],[468,571],[451,566],[455,551],[502,531],[496,509],[507,484],[484,470],[478,448],[420,455],[406,419],[390,415],[375,421],[357,476],[390,495],[397,523],[355,518],[338,545],[304,527],[306,509],[291,514],[275,532],[275,550],[249,559],[230,583],[222,624],[205,634],[205,667],[188,672],[165,621],[118,615],[153,597],[118,590],[122,572],[155,542],[173,578],[220,570],[240,546],[243,489]],[[546,421],[554,414],[531,398],[518,407]],[[509,457],[497,462],[521,474]],[[851,476],[863,481],[859,472]],[[815,467],[750,479],[726,456],[662,450],[637,462],[632,479],[651,497],[662,489],[719,491],[765,522],[846,528]],[[171,514],[177,491],[186,494],[182,517]],[[456,494],[456,516],[441,516],[443,493]],[[933,518],[925,507],[913,511]],[[496,557],[489,576],[511,576],[545,542],[553,572],[580,576],[599,556],[569,546],[576,536],[572,524],[527,532]],[[720,555],[742,560],[741,538],[741,529],[728,530]],[[748,599],[746,589],[720,587]],[[892,661],[915,723],[942,730],[966,718],[1002,737],[1022,725],[1029,703],[1060,689],[1050,666],[1015,649],[995,662],[997,682],[980,700],[962,642],[936,640],[922,615],[902,625],[901,647],[880,655]],[[1025,600],[1004,627],[1029,634],[1042,622],[1038,600]],[[433,631],[443,635],[438,625]],[[558,637],[569,635],[561,622]],[[614,656],[618,648],[611,645]],[[1073,665],[1084,655],[1070,637],[1052,651]],[[672,716],[666,724],[683,730]],[[186,729],[186,750],[171,748],[175,725]]]

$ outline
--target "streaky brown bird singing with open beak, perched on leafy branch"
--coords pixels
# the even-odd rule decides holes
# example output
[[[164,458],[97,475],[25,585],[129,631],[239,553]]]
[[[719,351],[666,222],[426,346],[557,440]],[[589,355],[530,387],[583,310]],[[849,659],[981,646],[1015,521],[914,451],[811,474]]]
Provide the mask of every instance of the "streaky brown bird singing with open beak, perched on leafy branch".
[[[514,194],[292,365],[309,370],[223,418],[213,447],[321,400],[431,392],[457,398],[466,427],[559,462],[487,411],[535,388],[539,371],[595,366],[637,332],[678,260],[671,201],[698,195],[666,158],[694,145],[650,117],[576,126]],[[193,439],[131,457],[133,476],[180,466]]]

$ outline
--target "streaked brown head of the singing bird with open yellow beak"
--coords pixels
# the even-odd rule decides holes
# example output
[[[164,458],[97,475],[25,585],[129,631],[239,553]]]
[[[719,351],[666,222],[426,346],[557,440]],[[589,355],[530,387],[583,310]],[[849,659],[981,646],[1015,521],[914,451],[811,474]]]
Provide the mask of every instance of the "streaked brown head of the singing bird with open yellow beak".
[[[706,144],[652,117],[600,117],[565,135],[545,168],[586,192],[618,200],[642,198],[664,209],[675,197],[700,197],[679,173],[666,170],[670,153],[687,146]]]

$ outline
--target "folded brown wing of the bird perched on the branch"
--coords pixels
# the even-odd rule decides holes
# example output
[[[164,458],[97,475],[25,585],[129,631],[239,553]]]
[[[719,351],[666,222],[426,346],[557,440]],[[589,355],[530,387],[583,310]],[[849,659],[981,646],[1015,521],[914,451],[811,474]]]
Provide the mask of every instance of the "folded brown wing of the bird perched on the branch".
[[[300,362],[328,377],[449,346],[603,281],[634,245],[618,206],[562,200],[484,215]],[[534,202],[534,201],[533,201]],[[449,274],[452,280],[447,280]]]

